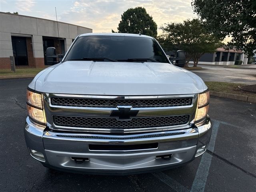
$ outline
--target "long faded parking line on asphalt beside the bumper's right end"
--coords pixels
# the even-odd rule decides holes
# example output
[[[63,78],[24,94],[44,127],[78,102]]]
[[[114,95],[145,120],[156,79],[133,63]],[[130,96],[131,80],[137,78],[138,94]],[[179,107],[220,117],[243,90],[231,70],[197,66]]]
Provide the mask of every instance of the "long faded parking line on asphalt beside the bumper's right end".
[[[216,120],[212,120],[212,136],[208,145],[208,150],[214,150],[215,140],[218,133],[218,128],[220,126],[220,122]],[[207,181],[207,177],[209,174],[210,165],[212,162],[212,156],[208,153],[204,153],[202,155],[200,164],[198,166],[198,170],[196,172],[196,176],[194,178],[194,182],[192,184],[190,192],[203,192],[205,188],[205,184]]]

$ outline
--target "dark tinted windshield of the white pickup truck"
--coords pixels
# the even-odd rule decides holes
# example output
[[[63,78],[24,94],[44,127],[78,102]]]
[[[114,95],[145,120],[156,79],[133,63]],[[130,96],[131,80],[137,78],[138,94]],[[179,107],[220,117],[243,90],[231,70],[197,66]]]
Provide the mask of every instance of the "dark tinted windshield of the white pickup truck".
[[[148,58],[149,62],[168,63],[156,40],[131,36],[81,36],[70,49],[65,61],[82,58],[108,58],[126,62],[136,62],[136,59],[143,61]]]

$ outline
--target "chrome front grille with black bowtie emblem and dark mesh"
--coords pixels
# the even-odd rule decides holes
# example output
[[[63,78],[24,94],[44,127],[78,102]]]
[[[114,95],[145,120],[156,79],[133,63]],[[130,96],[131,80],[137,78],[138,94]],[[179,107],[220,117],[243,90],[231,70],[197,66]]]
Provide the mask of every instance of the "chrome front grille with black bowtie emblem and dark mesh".
[[[197,102],[198,94],[44,94],[44,110],[49,128],[76,132],[125,134],[185,129],[194,121]]]

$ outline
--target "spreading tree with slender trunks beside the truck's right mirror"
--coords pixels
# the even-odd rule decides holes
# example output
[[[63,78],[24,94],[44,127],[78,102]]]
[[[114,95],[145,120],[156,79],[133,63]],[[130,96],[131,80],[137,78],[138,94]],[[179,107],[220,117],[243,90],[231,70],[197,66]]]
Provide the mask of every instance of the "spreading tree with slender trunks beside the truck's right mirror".
[[[158,37],[158,41],[166,50],[184,50],[185,66],[188,66],[192,58],[196,67],[204,53],[213,53],[221,45],[222,39],[208,33],[199,19],[184,20],[183,23],[168,23],[161,29],[163,34]]]

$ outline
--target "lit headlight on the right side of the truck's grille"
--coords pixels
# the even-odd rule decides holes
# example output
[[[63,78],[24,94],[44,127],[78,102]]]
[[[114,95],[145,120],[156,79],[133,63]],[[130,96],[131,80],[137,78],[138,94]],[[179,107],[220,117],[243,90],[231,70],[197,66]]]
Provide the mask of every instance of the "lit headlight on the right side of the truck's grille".
[[[210,94],[209,91],[199,94],[198,109],[195,122],[200,122],[206,118],[209,109]]]

